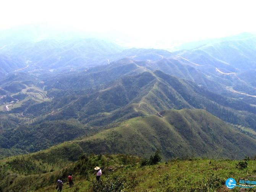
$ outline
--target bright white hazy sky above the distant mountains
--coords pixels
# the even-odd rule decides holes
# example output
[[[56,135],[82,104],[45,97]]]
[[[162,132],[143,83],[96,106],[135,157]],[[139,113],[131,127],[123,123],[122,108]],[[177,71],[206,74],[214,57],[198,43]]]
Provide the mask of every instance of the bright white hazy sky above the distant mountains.
[[[2,0],[0,29],[46,23],[129,37],[138,47],[255,32],[247,0]],[[126,43],[127,43],[126,42]]]

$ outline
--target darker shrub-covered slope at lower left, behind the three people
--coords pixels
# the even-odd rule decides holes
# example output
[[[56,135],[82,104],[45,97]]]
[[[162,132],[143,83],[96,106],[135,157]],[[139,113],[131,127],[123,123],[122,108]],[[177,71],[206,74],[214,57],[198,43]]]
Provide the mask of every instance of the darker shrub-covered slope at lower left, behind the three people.
[[[134,164],[139,160],[138,157],[129,155],[87,156],[79,145],[65,143],[42,152],[0,160],[0,191],[34,191],[54,184],[60,177],[66,181],[66,175],[70,172],[87,181],[92,178],[92,167],[96,165],[107,166],[105,170],[110,171],[117,166]]]

